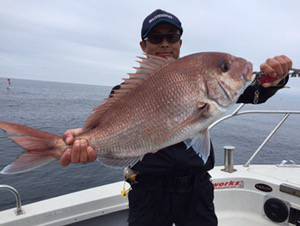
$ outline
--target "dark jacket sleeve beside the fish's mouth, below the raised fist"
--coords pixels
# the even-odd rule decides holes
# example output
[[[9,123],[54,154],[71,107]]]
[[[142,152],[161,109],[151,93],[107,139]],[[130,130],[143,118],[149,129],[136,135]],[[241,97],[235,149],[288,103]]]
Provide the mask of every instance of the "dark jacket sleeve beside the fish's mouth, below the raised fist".
[[[245,104],[261,104],[266,102],[271,96],[273,96],[279,89],[282,89],[288,82],[289,77],[287,76],[275,87],[264,88],[257,83],[253,83],[248,86],[244,93],[239,97],[237,103]]]

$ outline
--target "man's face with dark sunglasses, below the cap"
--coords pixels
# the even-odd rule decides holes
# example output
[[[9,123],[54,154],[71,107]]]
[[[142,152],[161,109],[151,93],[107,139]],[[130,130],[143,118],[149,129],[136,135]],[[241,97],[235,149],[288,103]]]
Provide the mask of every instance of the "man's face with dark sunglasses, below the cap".
[[[140,45],[146,54],[177,59],[181,43],[180,32],[176,27],[161,24],[154,28],[147,39],[140,42]]]

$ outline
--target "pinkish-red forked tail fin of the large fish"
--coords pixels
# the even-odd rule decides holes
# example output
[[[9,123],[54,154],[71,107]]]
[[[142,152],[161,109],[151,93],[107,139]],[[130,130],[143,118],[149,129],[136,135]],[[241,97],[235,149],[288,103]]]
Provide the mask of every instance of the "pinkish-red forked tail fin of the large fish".
[[[66,148],[61,137],[27,126],[0,121],[0,129],[26,151],[15,162],[2,169],[1,174],[23,173],[43,166],[58,159]]]

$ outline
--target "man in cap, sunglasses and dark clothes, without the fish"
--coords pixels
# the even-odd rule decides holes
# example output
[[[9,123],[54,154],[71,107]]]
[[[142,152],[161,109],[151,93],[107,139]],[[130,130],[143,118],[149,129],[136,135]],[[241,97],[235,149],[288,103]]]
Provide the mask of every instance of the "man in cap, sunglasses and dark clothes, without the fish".
[[[174,15],[155,10],[145,18],[140,46],[146,54],[179,58],[182,44],[181,23]],[[268,59],[261,65],[265,74],[261,85],[248,87],[239,103],[262,103],[282,88],[292,62],[286,56]],[[118,86],[114,87],[117,89]],[[114,90],[113,89],[113,90]],[[113,92],[112,90],[112,92]],[[65,140],[72,144],[82,129],[69,130]],[[85,140],[76,140],[67,150],[61,164],[86,163],[96,159],[96,152]],[[131,170],[136,177],[129,179],[130,226],[216,226],[213,205],[213,185],[208,170],[214,167],[214,152],[207,161],[181,142],[155,154],[147,154]]]

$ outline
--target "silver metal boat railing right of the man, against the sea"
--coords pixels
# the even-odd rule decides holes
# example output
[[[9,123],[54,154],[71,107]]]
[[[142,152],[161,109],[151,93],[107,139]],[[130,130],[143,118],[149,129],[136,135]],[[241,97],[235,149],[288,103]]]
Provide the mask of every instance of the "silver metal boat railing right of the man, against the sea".
[[[220,118],[219,120],[214,122],[212,125],[210,125],[209,129],[212,129],[213,127],[218,125],[220,122],[223,122],[227,119],[230,119],[230,118],[233,118],[233,117],[239,116],[239,115],[245,115],[245,114],[277,114],[277,115],[279,114],[279,115],[283,115],[282,119],[276,124],[274,129],[268,134],[268,136],[264,139],[264,141],[259,145],[259,147],[252,154],[252,156],[244,164],[245,167],[249,167],[252,160],[257,156],[258,153],[261,152],[261,150],[263,149],[265,144],[279,130],[279,128],[283,125],[283,123],[287,120],[287,118],[293,114],[300,114],[300,111],[286,111],[286,110],[244,110],[244,111],[241,111],[241,109],[244,107],[244,105],[245,104],[240,104],[231,114]]]

